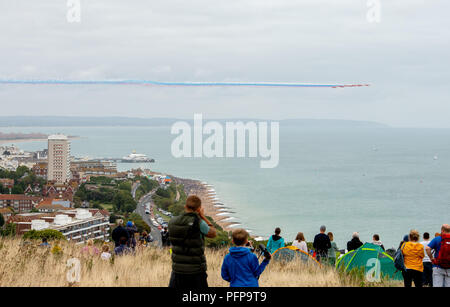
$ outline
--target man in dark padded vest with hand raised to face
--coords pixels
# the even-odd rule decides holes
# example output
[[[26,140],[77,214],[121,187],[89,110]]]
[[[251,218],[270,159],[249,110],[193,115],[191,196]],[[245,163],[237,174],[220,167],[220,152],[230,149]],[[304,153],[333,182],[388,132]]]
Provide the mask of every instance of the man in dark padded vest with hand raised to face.
[[[196,195],[186,199],[185,213],[169,222],[172,245],[170,288],[207,288],[205,237],[215,238],[216,229],[205,217],[202,201]]]

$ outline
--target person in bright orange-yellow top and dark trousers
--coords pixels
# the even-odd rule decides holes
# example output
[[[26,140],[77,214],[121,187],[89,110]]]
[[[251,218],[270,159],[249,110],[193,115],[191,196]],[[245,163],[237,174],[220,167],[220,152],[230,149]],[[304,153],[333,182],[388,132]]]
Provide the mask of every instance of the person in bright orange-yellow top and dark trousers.
[[[425,253],[423,245],[419,243],[419,238],[419,232],[411,230],[409,232],[409,241],[403,243],[402,246],[405,263],[405,270],[402,271],[402,275],[407,288],[412,286],[413,281],[416,288],[422,287],[423,257],[425,257]]]

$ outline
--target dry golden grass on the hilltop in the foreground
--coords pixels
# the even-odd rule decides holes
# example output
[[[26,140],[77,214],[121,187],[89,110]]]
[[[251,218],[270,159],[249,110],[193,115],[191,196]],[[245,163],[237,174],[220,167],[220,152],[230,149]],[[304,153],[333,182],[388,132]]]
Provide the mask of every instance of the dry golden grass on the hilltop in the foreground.
[[[81,255],[81,247],[60,242],[60,253],[38,247],[38,242],[24,245],[21,239],[0,238],[0,286],[71,286],[67,281],[67,260],[76,257],[81,262],[81,280],[74,286],[82,287],[166,287],[171,273],[168,250],[147,247],[135,255],[115,257],[104,261],[99,257]],[[55,245],[55,242],[52,242]],[[207,250],[208,284],[227,287],[220,268],[227,250]],[[260,286],[361,286],[361,280],[338,274],[333,268],[287,264],[272,261],[261,275]],[[372,286],[396,286],[382,283]]]

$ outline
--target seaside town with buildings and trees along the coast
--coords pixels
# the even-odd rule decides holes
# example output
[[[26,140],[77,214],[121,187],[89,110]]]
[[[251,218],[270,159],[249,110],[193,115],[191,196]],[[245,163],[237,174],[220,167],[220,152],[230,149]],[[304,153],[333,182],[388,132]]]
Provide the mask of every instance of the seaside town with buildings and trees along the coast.
[[[121,160],[127,159],[130,162],[154,162],[136,153]],[[148,169],[120,172],[115,161],[75,158],[71,156],[70,139],[65,135],[48,136],[48,148],[40,151],[28,152],[14,145],[0,146],[0,214],[4,228],[10,229],[12,226],[8,225],[14,225],[10,231],[16,235],[52,229],[77,244],[89,239],[109,242],[110,223],[116,215],[132,213],[137,206],[125,210],[114,207],[114,204],[127,206],[135,201],[125,197],[121,203],[117,196],[121,194],[108,194],[118,186],[121,191],[128,189],[128,196],[142,197],[142,191],[150,192],[150,188],[144,190],[140,185],[142,179],[151,182],[151,188],[159,187],[164,191],[172,183],[170,176]],[[206,193],[206,186],[197,181],[181,178],[179,181],[186,185],[187,191],[202,193],[203,190]],[[179,200],[180,193],[177,194]],[[214,200],[213,194],[209,195],[211,197],[207,199]],[[151,226],[159,231],[167,226],[167,218],[172,214],[162,208],[150,213],[150,204],[153,206],[153,201],[141,206],[150,216]],[[161,217],[163,213],[165,220]]]

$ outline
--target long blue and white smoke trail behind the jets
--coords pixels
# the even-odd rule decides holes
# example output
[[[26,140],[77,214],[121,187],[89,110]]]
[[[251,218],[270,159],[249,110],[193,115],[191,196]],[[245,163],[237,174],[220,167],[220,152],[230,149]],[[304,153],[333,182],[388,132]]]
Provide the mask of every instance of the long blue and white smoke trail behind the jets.
[[[308,84],[283,82],[161,82],[152,80],[0,80],[0,84],[34,85],[155,85],[155,86],[260,86],[260,87],[358,87],[369,84]]]

